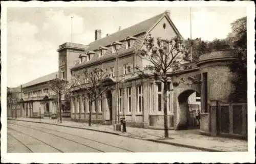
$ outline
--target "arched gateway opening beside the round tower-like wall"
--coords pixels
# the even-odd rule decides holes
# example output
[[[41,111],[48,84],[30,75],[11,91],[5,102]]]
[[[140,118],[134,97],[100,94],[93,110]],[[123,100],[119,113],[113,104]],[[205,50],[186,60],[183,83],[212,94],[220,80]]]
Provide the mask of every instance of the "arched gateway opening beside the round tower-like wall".
[[[200,98],[199,101],[196,101],[199,95],[200,93],[195,90],[185,90],[179,94],[177,104],[178,130],[200,128]]]

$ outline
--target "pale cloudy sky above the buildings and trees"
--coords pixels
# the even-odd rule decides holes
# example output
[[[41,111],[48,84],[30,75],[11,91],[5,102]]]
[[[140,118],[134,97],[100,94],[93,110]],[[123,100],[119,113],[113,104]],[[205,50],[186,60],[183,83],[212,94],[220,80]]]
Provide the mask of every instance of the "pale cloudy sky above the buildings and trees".
[[[7,86],[16,87],[58,70],[58,45],[71,41],[89,44],[94,30],[102,37],[170,10],[170,18],[184,38],[190,37],[187,7],[73,7],[8,8]],[[192,8],[192,36],[203,40],[225,38],[230,23],[246,16],[243,7]]]

